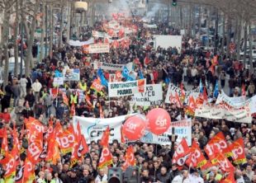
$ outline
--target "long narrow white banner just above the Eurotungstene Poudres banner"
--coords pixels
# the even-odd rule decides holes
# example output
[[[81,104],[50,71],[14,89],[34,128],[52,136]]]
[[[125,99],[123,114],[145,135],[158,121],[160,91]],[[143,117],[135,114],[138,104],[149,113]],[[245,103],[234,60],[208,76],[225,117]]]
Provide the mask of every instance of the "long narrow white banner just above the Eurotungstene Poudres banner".
[[[128,68],[129,71],[132,69],[132,63],[114,64],[114,63],[102,63],[97,61],[93,62],[94,69],[102,68],[103,70],[122,71],[125,66]]]

